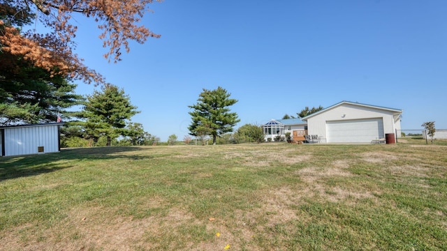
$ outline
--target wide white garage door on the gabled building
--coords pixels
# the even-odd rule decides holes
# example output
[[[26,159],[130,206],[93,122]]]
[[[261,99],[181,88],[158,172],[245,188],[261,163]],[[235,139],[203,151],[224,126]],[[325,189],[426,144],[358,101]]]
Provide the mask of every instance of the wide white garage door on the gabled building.
[[[328,143],[369,143],[384,137],[383,120],[327,121],[326,132]]]

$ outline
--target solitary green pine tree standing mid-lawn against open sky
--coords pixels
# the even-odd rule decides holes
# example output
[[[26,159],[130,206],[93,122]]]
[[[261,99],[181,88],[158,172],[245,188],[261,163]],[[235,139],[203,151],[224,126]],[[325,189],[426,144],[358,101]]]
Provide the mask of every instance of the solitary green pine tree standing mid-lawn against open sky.
[[[233,132],[233,126],[240,120],[235,112],[230,112],[231,105],[237,100],[230,98],[230,93],[219,86],[215,90],[203,89],[196,105],[190,105],[193,109],[189,112],[192,123],[188,127],[190,135],[203,137],[212,135],[212,143],[216,144],[216,138],[226,132]]]

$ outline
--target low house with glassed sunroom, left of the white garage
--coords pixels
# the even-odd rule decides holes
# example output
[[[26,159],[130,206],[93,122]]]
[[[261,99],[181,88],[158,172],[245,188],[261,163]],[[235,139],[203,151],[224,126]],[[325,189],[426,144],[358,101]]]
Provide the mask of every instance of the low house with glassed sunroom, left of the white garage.
[[[285,137],[286,132],[291,132],[295,141],[302,141],[307,134],[307,122],[301,119],[272,119],[263,125],[265,141],[274,141],[275,137]]]

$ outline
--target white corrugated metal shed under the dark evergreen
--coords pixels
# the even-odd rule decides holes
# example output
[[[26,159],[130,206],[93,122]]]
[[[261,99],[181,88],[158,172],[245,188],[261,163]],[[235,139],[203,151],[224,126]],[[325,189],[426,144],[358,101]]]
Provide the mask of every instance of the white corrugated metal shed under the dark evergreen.
[[[61,125],[64,123],[0,127],[1,156],[60,151]]]

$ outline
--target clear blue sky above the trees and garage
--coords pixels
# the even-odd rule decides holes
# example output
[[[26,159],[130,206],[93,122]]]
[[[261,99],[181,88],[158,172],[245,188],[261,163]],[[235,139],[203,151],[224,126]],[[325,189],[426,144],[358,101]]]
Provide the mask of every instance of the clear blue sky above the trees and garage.
[[[403,109],[402,129],[447,128],[447,1],[180,1],[151,6],[142,23],[161,38],[108,63],[96,26],[78,17],[76,52],[130,96],[133,117],[181,140],[188,105],[222,86],[240,123],[349,100]],[[93,85],[78,84],[91,94]]]

